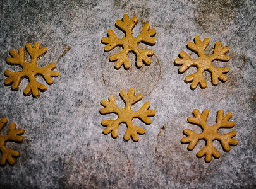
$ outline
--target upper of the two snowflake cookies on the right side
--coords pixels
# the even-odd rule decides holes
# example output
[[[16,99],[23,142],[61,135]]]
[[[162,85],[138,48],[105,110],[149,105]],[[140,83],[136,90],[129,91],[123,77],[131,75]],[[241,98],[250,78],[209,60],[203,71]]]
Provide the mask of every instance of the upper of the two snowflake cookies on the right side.
[[[212,61],[214,60],[222,60],[228,61],[230,59],[229,55],[226,53],[229,51],[229,47],[225,46],[221,49],[221,42],[217,42],[214,47],[214,53],[210,56],[204,54],[204,50],[209,44],[209,38],[205,38],[203,42],[199,36],[195,37],[195,43],[189,42],[188,49],[198,54],[198,59],[192,59],[186,52],[181,50],[180,57],[175,59],[174,64],[181,67],[179,68],[179,72],[183,73],[190,66],[196,66],[197,72],[195,74],[191,74],[190,76],[185,77],[185,82],[192,82],[190,88],[196,89],[198,84],[200,84],[201,88],[206,88],[207,84],[203,76],[204,71],[210,71],[212,74],[212,84],[217,85],[219,80],[222,82],[227,81],[228,77],[224,75],[229,71],[229,67],[214,67],[212,66]]]

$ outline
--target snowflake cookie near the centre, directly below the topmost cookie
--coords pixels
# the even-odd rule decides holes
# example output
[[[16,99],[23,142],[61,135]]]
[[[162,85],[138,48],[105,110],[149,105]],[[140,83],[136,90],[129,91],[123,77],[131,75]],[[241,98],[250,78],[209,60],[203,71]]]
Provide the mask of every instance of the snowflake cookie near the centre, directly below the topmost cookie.
[[[149,110],[150,103],[146,102],[138,111],[131,110],[131,106],[138,101],[142,100],[142,94],[138,93],[135,95],[135,89],[130,88],[128,95],[124,90],[120,92],[121,98],[125,101],[125,108],[121,109],[118,108],[116,105],[116,98],[114,95],[109,96],[109,101],[102,99],[101,105],[105,108],[101,108],[100,113],[116,113],[118,114],[118,118],[116,120],[102,120],[101,125],[107,126],[104,130],[104,134],[109,134],[112,132],[112,137],[118,137],[118,128],[121,123],[126,123],[127,129],[125,132],[124,139],[126,141],[130,140],[130,137],[137,142],[138,141],[138,134],[144,134],[145,129],[133,125],[133,118],[139,118],[144,123],[149,125],[151,123],[152,117],[155,115],[155,110]]]

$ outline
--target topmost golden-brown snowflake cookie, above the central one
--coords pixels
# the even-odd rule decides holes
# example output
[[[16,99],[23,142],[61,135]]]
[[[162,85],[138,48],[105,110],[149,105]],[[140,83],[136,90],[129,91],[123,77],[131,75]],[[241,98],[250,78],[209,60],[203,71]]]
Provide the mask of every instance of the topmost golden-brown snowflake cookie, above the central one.
[[[129,59],[128,59],[128,53],[133,52],[136,54],[136,66],[137,68],[142,67],[142,62],[145,63],[145,65],[149,66],[151,64],[151,59],[149,58],[149,55],[154,54],[153,49],[140,49],[138,48],[138,43],[142,42],[147,45],[155,45],[155,38],[154,35],[156,34],[155,29],[150,29],[150,26],[148,23],[146,23],[142,31],[140,32],[140,35],[137,37],[133,37],[131,31],[133,30],[134,26],[138,23],[137,17],[133,16],[131,20],[129,20],[129,16],[127,14],[123,15],[123,20],[117,20],[116,21],[116,27],[119,28],[119,30],[123,31],[125,33],[125,38],[118,38],[116,34],[114,34],[113,30],[107,31],[108,37],[102,37],[101,42],[104,44],[107,44],[104,47],[104,50],[106,52],[109,52],[109,50],[113,49],[116,46],[122,46],[123,51],[119,52],[118,54],[113,54],[109,57],[109,59],[112,61],[116,61],[115,68],[119,69],[122,65],[124,65],[125,69],[129,69],[131,67]]]

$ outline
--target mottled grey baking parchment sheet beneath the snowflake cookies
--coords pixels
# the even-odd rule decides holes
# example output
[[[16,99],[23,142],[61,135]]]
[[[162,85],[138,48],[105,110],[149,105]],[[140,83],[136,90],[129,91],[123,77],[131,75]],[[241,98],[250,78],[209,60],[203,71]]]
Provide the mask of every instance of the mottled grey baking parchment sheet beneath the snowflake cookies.
[[[0,2],[0,117],[25,129],[24,142],[7,146],[20,152],[15,166],[0,167],[0,188],[253,188],[256,185],[255,164],[255,11],[248,1],[7,1]],[[127,13],[137,16],[138,35],[144,23],[155,28],[157,43],[150,66],[114,69],[111,54],[121,47],[104,52],[101,38],[115,28],[116,20]],[[228,81],[212,86],[205,73],[207,88],[190,90],[185,76],[195,67],[178,74],[173,62],[196,35],[208,37],[206,53],[214,44],[229,45],[231,60],[215,65],[229,66]],[[38,99],[24,96],[28,81],[18,91],[4,86],[4,70],[21,70],[6,64],[9,50],[40,41],[49,52],[38,61],[40,67],[56,62],[59,77]],[[45,83],[42,77],[38,81]],[[126,127],[119,136],[104,135],[101,120],[116,115],[101,115],[100,101],[116,96],[119,106],[121,89],[134,87],[143,99],[134,106],[138,110],[146,101],[156,115],[151,125],[133,122],[145,128],[138,142],[123,141]],[[232,129],[238,146],[224,152],[214,142],[221,158],[205,163],[180,140],[185,128],[200,132],[187,123],[193,109],[208,108],[209,125],[213,125],[219,109],[232,112]],[[5,133],[7,127],[3,130]]]

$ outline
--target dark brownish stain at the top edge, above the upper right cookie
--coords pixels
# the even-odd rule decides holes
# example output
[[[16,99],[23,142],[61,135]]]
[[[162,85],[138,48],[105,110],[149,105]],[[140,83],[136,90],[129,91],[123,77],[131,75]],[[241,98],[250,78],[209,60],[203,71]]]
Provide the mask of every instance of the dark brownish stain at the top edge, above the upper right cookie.
[[[205,0],[195,2],[197,22],[210,33],[221,33],[231,25],[236,18],[243,1]]]

